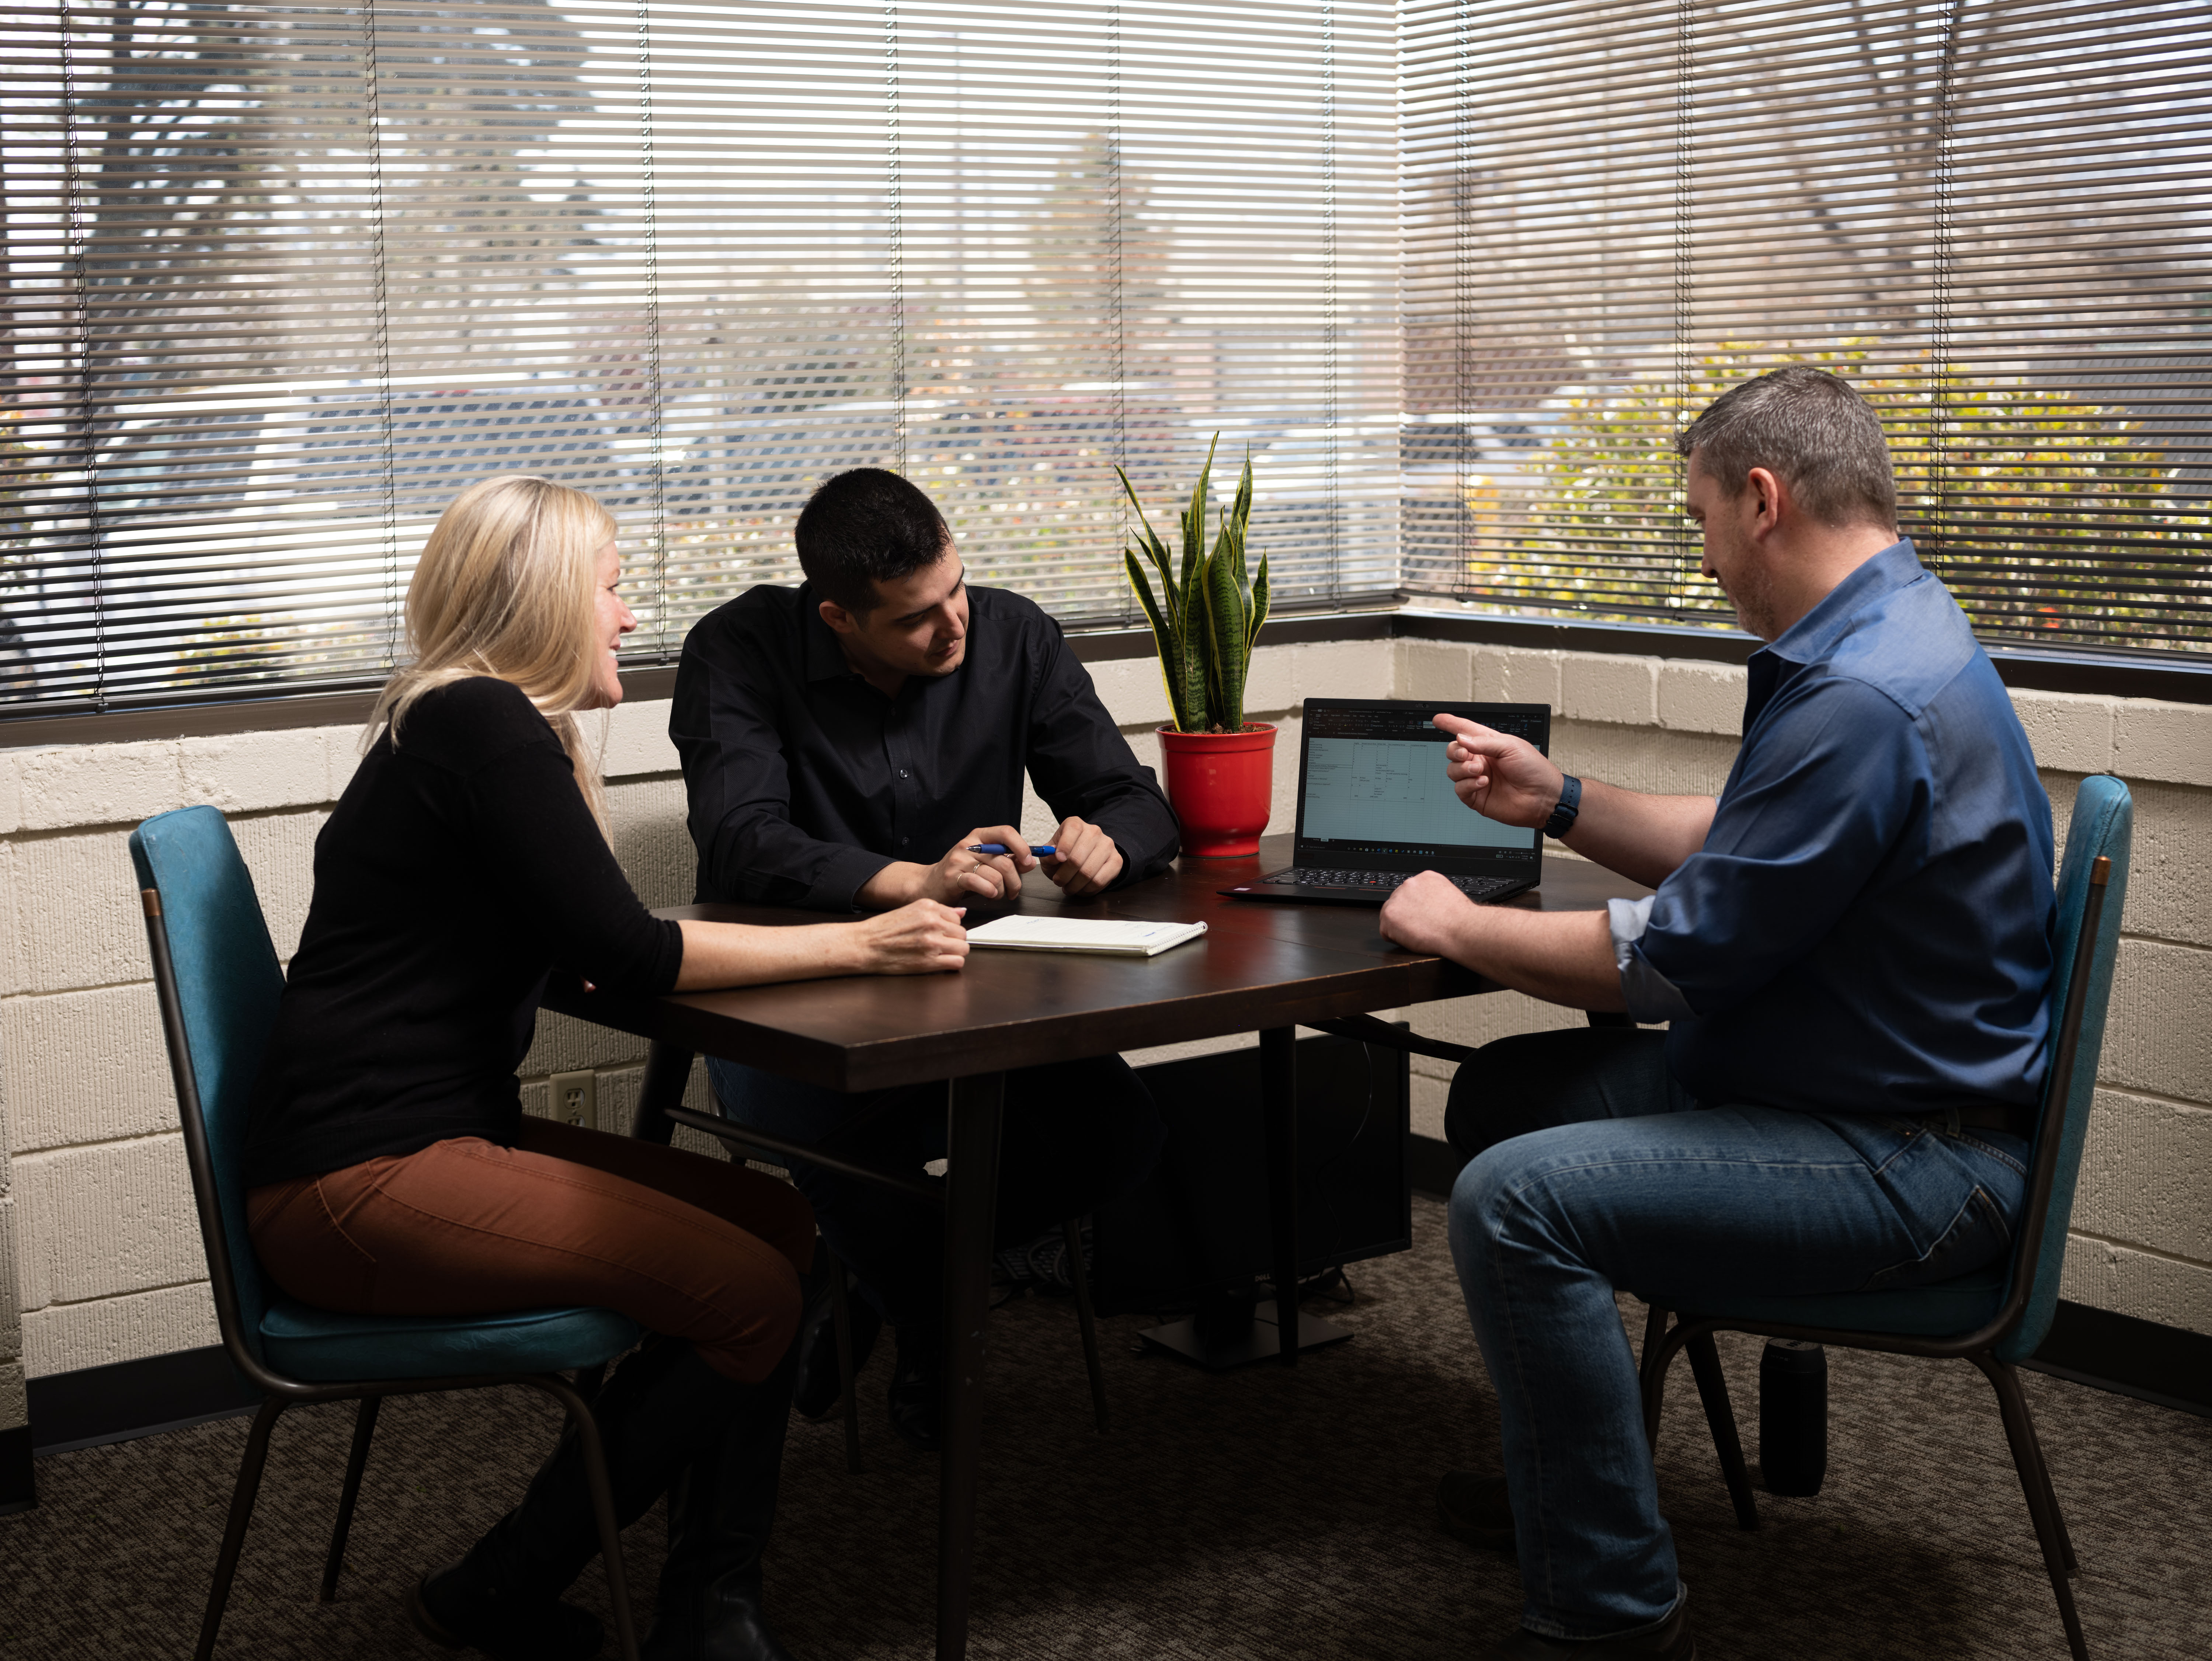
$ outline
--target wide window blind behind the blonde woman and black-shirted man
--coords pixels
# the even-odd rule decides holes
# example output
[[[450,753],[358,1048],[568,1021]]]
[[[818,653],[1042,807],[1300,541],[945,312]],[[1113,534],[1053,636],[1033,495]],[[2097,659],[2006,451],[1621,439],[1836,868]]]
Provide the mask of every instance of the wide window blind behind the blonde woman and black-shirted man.
[[[345,686],[438,511],[624,526],[672,661],[856,464],[1126,621],[1113,464],[1250,451],[1279,604],[1396,584],[1385,4],[0,9],[0,699]]]

